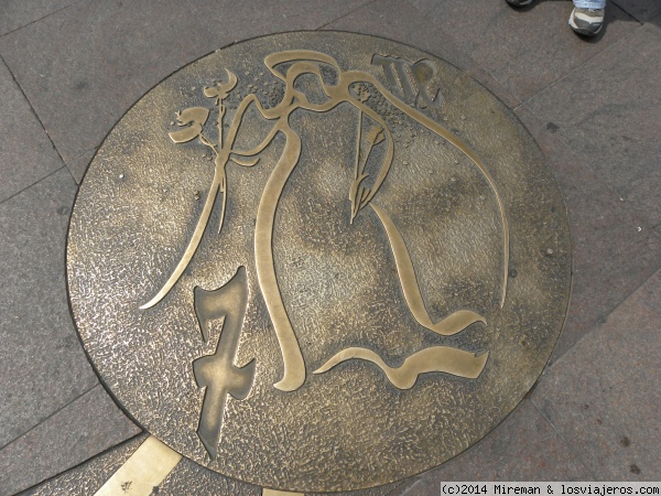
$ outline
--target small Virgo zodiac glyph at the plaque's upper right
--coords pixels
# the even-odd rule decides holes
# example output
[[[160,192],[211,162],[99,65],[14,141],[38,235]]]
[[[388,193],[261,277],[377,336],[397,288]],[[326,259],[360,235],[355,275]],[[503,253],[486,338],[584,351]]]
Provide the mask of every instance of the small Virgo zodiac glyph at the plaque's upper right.
[[[414,100],[418,108],[437,105],[438,94],[432,98],[427,93],[429,85],[436,73],[432,62],[422,60],[413,64],[404,58],[375,54],[372,64],[383,68],[390,90],[393,94],[400,93],[403,100]],[[413,85],[409,79],[409,72],[413,78]]]

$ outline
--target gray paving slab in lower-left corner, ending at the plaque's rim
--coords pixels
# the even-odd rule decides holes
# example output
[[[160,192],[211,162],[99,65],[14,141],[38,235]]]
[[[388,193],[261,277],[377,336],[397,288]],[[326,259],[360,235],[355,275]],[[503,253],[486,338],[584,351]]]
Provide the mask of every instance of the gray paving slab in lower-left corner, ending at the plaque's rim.
[[[139,433],[97,385],[0,450],[0,495],[26,489]]]

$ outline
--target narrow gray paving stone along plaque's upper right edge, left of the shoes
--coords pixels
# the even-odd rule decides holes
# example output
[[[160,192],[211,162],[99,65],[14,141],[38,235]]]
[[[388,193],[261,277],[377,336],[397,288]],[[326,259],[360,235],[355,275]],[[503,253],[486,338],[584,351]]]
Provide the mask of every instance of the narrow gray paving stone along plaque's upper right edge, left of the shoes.
[[[408,1],[377,0],[325,25],[324,29],[373,34],[416,46],[467,72],[498,96],[505,105],[513,108],[520,104],[449,35],[430,22]]]

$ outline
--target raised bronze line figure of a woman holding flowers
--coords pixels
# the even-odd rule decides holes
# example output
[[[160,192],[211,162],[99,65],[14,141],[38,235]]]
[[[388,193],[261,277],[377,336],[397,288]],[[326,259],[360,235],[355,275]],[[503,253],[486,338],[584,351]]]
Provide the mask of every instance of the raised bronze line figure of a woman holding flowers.
[[[377,57],[377,56],[375,56]],[[378,61],[399,61],[393,57],[381,57]],[[391,62],[389,62],[391,63]],[[280,64],[289,64],[284,73],[278,71]],[[426,95],[426,85],[429,84],[432,75],[433,67],[425,66],[426,63],[419,65],[418,69],[413,71],[418,74],[416,83],[419,85],[416,98],[423,98],[425,101],[431,99]],[[225,215],[225,205],[228,197],[228,185],[226,179],[226,166],[229,162],[234,162],[241,166],[254,165],[259,158],[256,158],[262,152],[275,138],[277,134],[282,133],[285,138],[284,149],[282,154],[274,165],[264,191],[261,196],[261,201],[258,206],[257,219],[254,226],[254,261],[257,278],[259,287],[267,304],[269,315],[273,323],[275,334],[280,344],[282,359],[283,359],[283,375],[282,379],[274,385],[275,388],[283,391],[293,391],[300,388],[305,381],[305,363],[299,346],[299,342],[294,330],[292,328],[290,319],[284,308],[280,288],[275,277],[275,269],[273,265],[273,247],[272,247],[272,235],[273,225],[275,218],[275,212],[282,194],[282,191],[296,168],[301,154],[301,138],[291,128],[289,123],[290,116],[299,110],[310,110],[314,112],[326,112],[337,107],[340,104],[347,103],[358,109],[359,123],[357,129],[357,147],[356,147],[356,162],[355,162],[355,174],[354,182],[349,188],[349,200],[351,202],[351,214],[350,222],[354,220],[356,215],[365,208],[367,205],[371,205],[371,208],[376,213],[377,217],[383,224],[388,239],[391,245],[392,252],[395,258],[398,266],[398,273],[400,277],[400,284],[405,296],[405,301],[409,309],[415,320],[425,328],[429,328],[435,333],[442,335],[452,335],[466,328],[468,325],[476,322],[484,322],[484,319],[477,313],[469,310],[459,310],[453,313],[448,317],[442,320],[438,323],[433,323],[425,310],[420,288],[413,271],[411,259],[409,257],[405,244],[401,238],[401,235],[392,220],[388,215],[372,204],[371,201],[378,193],[381,184],[386,180],[388,172],[392,165],[393,160],[393,139],[391,131],[384,119],[375,111],[371,107],[366,105],[369,99],[369,90],[367,86],[375,88],[376,91],[383,95],[383,97],[400,111],[405,114],[411,119],[418,121],[421,126],[424,126],[430,131],[436,133],[438,137],[445,139],[452,145],[457,148],[464,153],[470,161],[479,169],[484,177],[489,184],[496,201],[498,203],[499,216],[501,220],[503,249],[502,249],[502,267],[503,278],[501,291],[500,304],[505,303],[507,292],[507,273],[509,263],[509,230],[507,224],[507,217],[505,215],[505,208],[500,200],[500,195],[494,180],[487,171],[484,163],[455,134],[443,128],[433,119],[421,114],[419,110],[411,108],[407,103],[395,97],[390,93],[377,78],[372,75],[359,72],[359,71],[343,71],[337,62],[323,53],[313,51],[288,51],[279,52],[268,55],[264,58],[264,65],[270,73],[282,80],[285,85],[284,96],[281,101],[273,108],[263,108],[260,100],[254,94],[248,95],[241,100],[236,112],[231,118],[231,123],[228,127],[226,140],[223,141],[223,117],[225,115],[225,107],[221,105],[223,99],[227,96],[236,85],[236,76],[227,71],[229,82],[227,84],[218,84],[214,88],[205,88],[205,95],[210,98],[215,98],[216,105],[219,106],[218,110],[218,144],[213,144],[209,139],[203,133],[203,127],[208,118],[208,111],[205,114],[199,107],[187,109],[182,111],[177,121],[178,125],[184,127],[189,125],[189,128],[185,128],[181,131],[172,132],[170,136],[174,142],[185,142],[199,138],[199,141],[205,145],[209,147],[215,153],[215,174],[212,183],[212,187],[207,195],[203,213],[199,217],[197,226],[193,233],[193,236],[188,242],[186,251],[180,260],[177,267],[172,272],[162,289],[158,294],[142,308],[147,309],[153,306],[161,301],[172,287],[176,283],[187,265],[189,263],[193,255],[195,254],[202,236],[206,230],[206,226],[209,219],[209,215],[214,207],[216,196],[223,194],[223,213],[220,215],[220,226],[223,225],[223,218]],[[328,84],[322,76],[321,67],[326,66],[336,73],[335,84]],[[425,68],[426,67],[426,68]],[[326,100],[321,104],[312,103],[307,99],[306,95],[301,90],[296,89],[296,79],[302,75],[316,76],[316,80],[321,85]],[[404,88],[405,91],[408,89]],[[413,89],[411,88],[411,91]],[[262,118],[267,121],[272,122],[271,129],[263,141],[251,150],[239,150],[235,148],[235,141],[237,133],[241,127],[241,122],[247,109],[252,106],[257,109]],[[362,136],[362,120],[364,118],[369,119],[372,122],[372,129],[367,134],[368,150],[361,154],[361,136]],[[382,144],[381,144],[382,143]],[[366,164],[370,158],[372,149],[375,147],[383,147],[382,162],[378,169],[371,184],[368,184],[369,174],[366,173]],[[247,160],[249,158],[249,160]],[[345,352],[349,352],[348,354]],[[424,352],[424,353],[423,353]],[[378,355],[371,351],[364,349],[362,352],[351,349],[340,352],[330,360],[328,360],[322,368],[317,369],[316,373],[321,374],[328,370],[329,368],[337,365],[339,362],[349,359],[351,357],[369,359],[375,364],[379,365],[387,376],[394,378],[393,384],[401,384],[402,386],[411,387],[414,384],[414,379],[419,374],[424,371],[448,371],[451,374],[462,375],[464,377],[477,377],[484,364],[486,362],[486,355],[479,357],[462,352],[456,348],[446,346],[436,346],[429,348],[427,351],[419,352],[407,358],[402,369],[408,370],[404,375],[409,377],[413,371],[413,382],[410,382],[410,378],[399,379],[398,374],[393,373],[392,369],[388,369],[384,363],[379,363]],[[356,353],[354,356],[349,356],[351,353]],[[359,356],[362,354],[362,356]],[[370,355],[371,354],[371,355]],[[455,364],[452,365],[451,363]],[[448,365],[449,364],[449,365]],[[457,365],[458,364],[458,365]],[[476,370],[477,375],[476,375]],[[395,384],[395,386],[397,386]]]

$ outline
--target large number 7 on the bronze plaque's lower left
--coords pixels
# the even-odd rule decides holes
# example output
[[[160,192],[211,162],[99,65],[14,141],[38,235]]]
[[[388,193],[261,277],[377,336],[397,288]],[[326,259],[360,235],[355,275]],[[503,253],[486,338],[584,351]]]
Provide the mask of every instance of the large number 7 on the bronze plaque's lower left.
[[[215,291],[195,288],[195,315],[204,341],[209,338],[210,322],[225,319],[216,353],[193,363],[197,386],[206,387],[197,435],[212,459],[216,457],[218,451],[227,395],[238,400],[245,399],[254,379],[254,359],[243,367],[234,365],[247,308],[248,279],[245,267],[239,267],[237,273]]]

